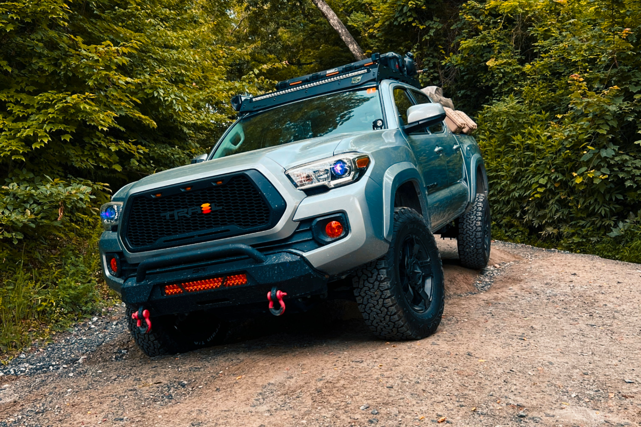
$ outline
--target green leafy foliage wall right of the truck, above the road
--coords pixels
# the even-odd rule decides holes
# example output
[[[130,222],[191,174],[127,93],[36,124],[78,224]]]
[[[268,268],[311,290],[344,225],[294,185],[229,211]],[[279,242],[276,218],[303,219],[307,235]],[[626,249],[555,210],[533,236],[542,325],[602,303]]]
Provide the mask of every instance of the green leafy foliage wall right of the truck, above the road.
[[[470,1],[458,25],[504,235],[641,262],[640,5]]]

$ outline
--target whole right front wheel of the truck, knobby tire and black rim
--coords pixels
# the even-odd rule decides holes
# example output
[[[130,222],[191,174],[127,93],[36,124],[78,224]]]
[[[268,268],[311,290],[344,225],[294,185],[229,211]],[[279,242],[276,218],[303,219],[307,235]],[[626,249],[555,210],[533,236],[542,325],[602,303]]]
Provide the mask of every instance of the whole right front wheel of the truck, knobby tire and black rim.
[[[358,308],[377,337],[422,339],[437,330],[444,308],[443,265],[418,212],[394,210],[390,249],[362,267],[353,283]]]

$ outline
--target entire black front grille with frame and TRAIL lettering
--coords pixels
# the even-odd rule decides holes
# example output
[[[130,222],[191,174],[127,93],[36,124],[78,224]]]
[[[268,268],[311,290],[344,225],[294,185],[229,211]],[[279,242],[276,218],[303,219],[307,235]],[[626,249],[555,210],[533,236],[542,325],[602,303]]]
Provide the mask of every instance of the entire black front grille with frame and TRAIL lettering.
[[[134,196],[126,206],[122,233],[131,251],[181,246],[267,230],[284,207],[262,175],[247,171]]]

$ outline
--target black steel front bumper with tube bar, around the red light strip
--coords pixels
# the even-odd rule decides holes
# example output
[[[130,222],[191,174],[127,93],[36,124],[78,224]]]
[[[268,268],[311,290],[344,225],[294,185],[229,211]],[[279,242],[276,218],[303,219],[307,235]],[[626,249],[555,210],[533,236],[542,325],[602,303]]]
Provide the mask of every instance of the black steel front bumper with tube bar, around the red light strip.
[[[267,255],[256,251],[260,257],[249,258],[251,254],[243,256],[243,251],[237,252],[240,256],[225,260],[207,261],[202,258],[208,255],[196,253],[192,262],[177,259],[163,263],[161,259],[141,264],[137,276],[129,277],[119,289],[122,301],[132,306],[144,306],[152,315],[209,309],[225,312],[229,308],[243,311],[243,306],[260,306],[266,311],[267,293],[274,286],[287,292],[287,300],[327,292],[327,276],[315,271],[301,255],[287,251]],[[246,274],[247,284],[178,295],[165,295],[163,292],[165,285],[236,274]]]

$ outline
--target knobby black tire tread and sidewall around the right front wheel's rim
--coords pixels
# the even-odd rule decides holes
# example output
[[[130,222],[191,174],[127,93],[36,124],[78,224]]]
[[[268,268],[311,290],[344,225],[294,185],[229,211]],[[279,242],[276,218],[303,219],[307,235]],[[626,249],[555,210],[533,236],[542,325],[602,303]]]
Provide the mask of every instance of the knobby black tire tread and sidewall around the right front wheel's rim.
[[[431,303],[422,313],[412,308],[403,291],[399,270],[399,251],[408,236],[415,236],[420,249],[429,256]],[[421,282],[422,283],[422,282]],[[388,252],[364,265],[353,279],[356,303],[370,330],[381,339],[422,339],[434,333],[444,308],[443,265],[434,236],[422,216],[410,208],[395,208],[394,233]]]

